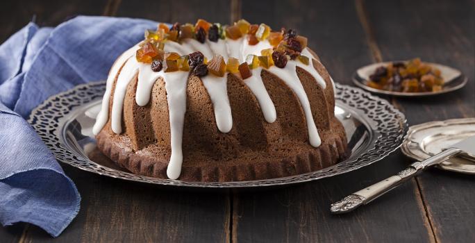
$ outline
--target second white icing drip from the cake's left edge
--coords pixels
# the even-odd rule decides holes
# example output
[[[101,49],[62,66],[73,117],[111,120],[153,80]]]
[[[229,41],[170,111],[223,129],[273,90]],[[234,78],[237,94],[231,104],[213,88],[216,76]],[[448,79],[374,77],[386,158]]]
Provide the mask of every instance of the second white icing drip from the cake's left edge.
[[[138,72],[139,63],[135,57],[128,58],[115,84],[113,110],[111,123],[112,130],[116,134],[122,133],[122,110],[124,107],[124,97],[127,91],[127,85],[133,76]]]

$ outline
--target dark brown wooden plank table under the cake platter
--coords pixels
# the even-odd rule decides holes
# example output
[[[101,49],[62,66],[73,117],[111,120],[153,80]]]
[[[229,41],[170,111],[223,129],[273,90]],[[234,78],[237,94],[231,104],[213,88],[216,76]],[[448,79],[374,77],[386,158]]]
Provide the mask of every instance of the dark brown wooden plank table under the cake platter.
[[[1,1],[0,42],[35,15],[54,26],[74,15],[160,22],[228,23],[245,18],[308,37],[335,81],[379,60],[420,57],[462,70],[467,86],[438,97],[392,99],[409,124],[475,116],[475,1]],[[254,191],[175,190],[64,166],[83,198],[60,237],[17,224],[0,242],[475,242],[475,177],[431,169],[348,215],[330,203],[411,162],[400,151],[381,162],[312,183]]]

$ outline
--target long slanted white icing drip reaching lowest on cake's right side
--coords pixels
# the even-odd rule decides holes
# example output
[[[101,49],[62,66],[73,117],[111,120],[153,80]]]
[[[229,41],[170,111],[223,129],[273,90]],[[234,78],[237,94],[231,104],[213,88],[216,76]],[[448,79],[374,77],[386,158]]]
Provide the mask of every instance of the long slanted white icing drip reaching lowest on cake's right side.
[[[286,85],[290,87],[290,89],[297,95],[299,98],[300,105],[302,106],[303,112],[305,113],[305,119],[307,121],[307,128],[308,128],[308,140],[310,141],[310,145],[312,146],[320,146],[322,141],[318,135],[317,126],[315,125],[315,121],[313,120],[312,110],[310,110],[310,102],[308,101],[307,94],[305,90],[303,90],[303,85],[300,82],[299,76],[297,76],[297,62],[289,61],[285,68],[278,68],[272,66],[269,68],[269,72],[275,74]]]

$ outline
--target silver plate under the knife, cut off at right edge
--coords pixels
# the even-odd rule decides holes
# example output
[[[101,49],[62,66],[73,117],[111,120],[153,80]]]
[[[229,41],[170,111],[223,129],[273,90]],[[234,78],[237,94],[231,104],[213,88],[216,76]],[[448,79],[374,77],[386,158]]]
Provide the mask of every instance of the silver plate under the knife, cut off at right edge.
[[[475,118],[430,121],[410,126],[401,150],[406,156],[421,161],[474,135]],[[438,167],[464,174],[475,174],[475,160],[468,157],[451,158]]]

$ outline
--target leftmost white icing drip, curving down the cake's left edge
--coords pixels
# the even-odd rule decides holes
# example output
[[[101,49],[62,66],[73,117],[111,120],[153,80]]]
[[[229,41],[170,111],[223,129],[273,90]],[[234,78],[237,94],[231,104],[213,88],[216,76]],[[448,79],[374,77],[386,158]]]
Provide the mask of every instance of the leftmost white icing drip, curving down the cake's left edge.
[[[110,92],[112,92],[112,87],[114,85],[114,80],[115,77],[117,76],[117,72],[119,72],[120,67],[130,58],[133,56],[135,51],[137,51],[140,47],[139,46],[133,46],[131,49],[128,49],[124,53],[122,53],[119,58],[114,62],[113,66],[110,68],[109,75],[107,77],[107,82],[106,82],[106,92],[104,93],[104,96],[102,97],[102,103],[101,103],[101,111],[99,114],[97,114],[96,117],[96,123],[92,127],[92,133],[94,135],[98,135],[99,132],[102,130],[103,126],[106,125],[107,120],[109,119],[109,100],[110,100]]]

